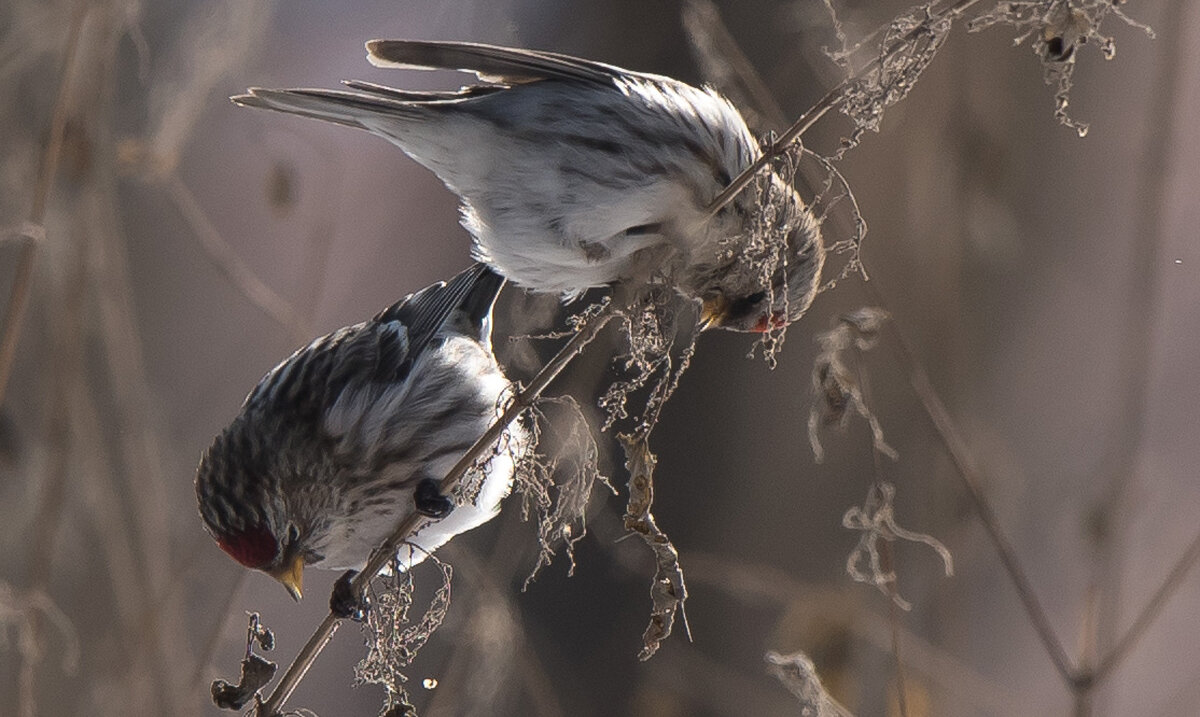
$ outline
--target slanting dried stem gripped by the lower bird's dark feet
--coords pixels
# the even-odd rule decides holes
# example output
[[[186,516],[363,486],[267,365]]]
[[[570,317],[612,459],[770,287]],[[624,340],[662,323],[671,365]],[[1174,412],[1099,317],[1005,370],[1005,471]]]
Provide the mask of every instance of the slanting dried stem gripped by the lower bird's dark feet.
[[[583,351],[592,341],[600,333],[608,321],[614,319],[622,312],[617,308],[614,303],[608,303],[600,309],[599,313],[588,318],[582,326],[571,337],[571,341],[551,358],[546,366],[542,367],[538,375],[529,381],[528,386],[524,386],[512,400],[505,406],[500,417],[496,420],[494,423],[484,433],[482,436],[458,459],[458,463],[450,469],[444,478],[442,478],[440,489],[443,494],[449,494],[458,484],[467,471],[475,465],[475,463],[484,457],[487,451],[492,450],[493,444],[499,440],[500,435],[509,427],[512,421],[516,420],[522,412],[524,412],[529,406],[538,400],[546,387],[558,378],[558,374],[570,364],[575,357]],[[376,552],[371,555],[362,571],[354,578],[353,589],[355,591],[362,591],[366,589],[367,584],[374,579],[376,576],[382,571],[396,555],[396,550],[400,549],[401,544],[409,538],[414,532],[422,528],[430,519],[420,516],[418,513],[409,513],[396,530],[388,537],[386,541],[380,544]],[[283,703],[292,697],[296,686],[304,679],[308,668],[320,655],[325,645],[334,637],[337,631],[338,625],[342,622],[341,617],[337,617],[332,613],[325,615],[320,625],[317,626],[316,632],[308,638],[308,641],[296,655],[296,658],[288,667],[287,671],[280,677],[278,685],[275,686],[275,691],[266,701],[262,703],[258,707],[259,717],[274,717],[280,712]]]

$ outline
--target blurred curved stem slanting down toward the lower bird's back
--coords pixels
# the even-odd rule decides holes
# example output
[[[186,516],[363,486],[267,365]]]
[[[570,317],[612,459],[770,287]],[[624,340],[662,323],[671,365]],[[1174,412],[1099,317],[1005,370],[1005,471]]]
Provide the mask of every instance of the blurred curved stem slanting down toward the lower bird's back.
[[[217,269],[226,278],[242,293],[254,306],[263,309],[268,317],[275,319],[281,326],[292,333],[296,341],[307,341],[312,335],[312,327],[299,312],[274,289],[268,287],[263,279],[250,267],[246,261],[238,255],[238,252],[217,228],[212,225],[208,212],[196,199],[196,194],[184,183],[174,171],[162,175],[162,183],[170,195],[184,221],[192,228],[196,239],[199,240],[204,252],[212,259]]]

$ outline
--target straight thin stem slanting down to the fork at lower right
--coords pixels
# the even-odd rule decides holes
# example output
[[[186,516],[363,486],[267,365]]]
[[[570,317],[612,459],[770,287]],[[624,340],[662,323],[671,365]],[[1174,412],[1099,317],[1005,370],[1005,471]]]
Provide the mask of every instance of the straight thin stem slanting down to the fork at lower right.
[[[880,306],[887,306],[874,282],[864,282],[864,288],[868,294],[871,295],[872,301],[877,302]],[[929,415],[930,421],[932,421],[938,438],[942,439],[942,445],[946,446],[950,459],[954,462],[954,466],[958,469],[956,474],[962,481],[962,484],[966,487],[967,493],[971,495],[971,500],[974,502],[976,512],[979,513],[979,519],[983,523],[984,529],[988,531],[988,536],[991,538],[992,546],[996,548],[996,553],[1000,555],[1000,561],[1004,566],[1004,571],[1008,573],[1009,579],[1013,582],[1013,588],[1016,589],[1016,595],[1020,598],[1021,604],[1025,607],[1025,611],[1030,617],[1030,622],[1033,625],[1033,629],[1042,640],[1042,645],[1045,647],[1046,653],[1050,656],[1050,661],[1054,663],[1055,669],[1058,670],[1058,675],[1063,679],[1063,682],[1073,685],[1078,677],[1076,670],[1072,665],[1070,658],[1067,656],[1067,651],[1062,646],[1062,643],[1055,635],[1054,627],[1050,625],[1050,619],[1046,616],[1045,608],[1042,607],[1042,602],[1033,591],[1032,582],[1021,567],[1020,560],[1016,558],[1016,550],[1008,541],[1008,537],[1004,536],[1004,532],[1000,526],[1000,519],[992,511],[991,504],[988,502],[986,496],[984,496],[983,477],[971,458],[971,452],[967,448],[966,441],[962,440],[961,435],[959,435],[959,430],[955,427],[953,418],[950,418],[949,411],[946,410],[946,405],[942,403],[942,399],[938,398],[937,391],[934,390],[934,385],[929,380],[929,375],[925,373],[925,369],[922,368],[920,363],[917,361],[916,353],[908,343],[907,337],[905,337],[905,335],[900,331],[895,320],[893,320],[889,326],[892,327],[893,335],[896,337],[896,354],[905,369],[908,372],[910,385],[917,394],[917,398],[920,400],[922,406],[925,409],[925,412]]]

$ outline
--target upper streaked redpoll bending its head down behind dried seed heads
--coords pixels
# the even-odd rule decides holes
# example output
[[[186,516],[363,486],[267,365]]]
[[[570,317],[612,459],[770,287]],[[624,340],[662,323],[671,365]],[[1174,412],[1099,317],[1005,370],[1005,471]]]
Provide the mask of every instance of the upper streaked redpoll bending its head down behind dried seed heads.
[[[451,92],[251,89],[233,97],[367,129],[462,199],[475,255],[516,284],[572,296],[665,277],[702,302],[706,326],[763,331],[803,314],[824,248],[817,222],[778,175],[716,216],[707,205],[761,156],[742,115],[709,89],[556,53],[376,40],[382,67],[461,70]],[[769,195],[769,197],[768,197]],[[772,275],[748,257],[760,203],[785,219]],[[763,276],[764,273],[770,276]]]

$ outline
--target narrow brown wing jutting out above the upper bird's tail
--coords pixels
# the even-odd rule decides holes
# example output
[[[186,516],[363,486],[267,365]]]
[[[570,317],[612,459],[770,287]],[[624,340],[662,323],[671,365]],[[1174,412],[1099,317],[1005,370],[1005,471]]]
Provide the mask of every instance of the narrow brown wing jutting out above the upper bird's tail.
[[[616,78],[638,74],[559,53],[475,42],[372,40],[367,60],[376,67],[473,72],[484,82],[504,84],[565,79],[611,85]]]

